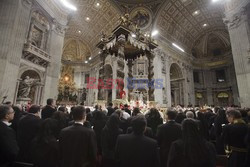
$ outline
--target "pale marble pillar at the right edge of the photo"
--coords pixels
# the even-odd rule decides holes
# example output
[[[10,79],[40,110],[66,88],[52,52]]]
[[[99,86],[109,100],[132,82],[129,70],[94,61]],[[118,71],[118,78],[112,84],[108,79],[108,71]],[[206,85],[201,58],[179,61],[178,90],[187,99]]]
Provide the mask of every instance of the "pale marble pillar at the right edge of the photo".
[[[241,107],[250,107],[250,3],[232,0],[225,5]]]

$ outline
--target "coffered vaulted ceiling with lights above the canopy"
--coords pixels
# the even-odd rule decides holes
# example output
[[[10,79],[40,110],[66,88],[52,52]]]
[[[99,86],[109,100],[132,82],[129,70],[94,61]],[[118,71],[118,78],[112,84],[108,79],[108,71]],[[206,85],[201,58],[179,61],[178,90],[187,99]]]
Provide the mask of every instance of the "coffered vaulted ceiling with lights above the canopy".
[[[95,46],[100,41],[101,33],[110,33],[125,12],[129,12],[134,18],[140,18],[138,11],[144,12],[142,16],[148,17],[146,21],[149,24],[146,26],[145,20],[139,22],[145,25],[143,31],[157,29],[160,36],[164,37],[161,39],[175,42],[189,53],[193,48],[198,50],[200,48],[201,51],[198,52],[203,53],[204,46],[200,46],[200,42],[197,41],[209,40],[210,38],[204,36],[211,32],[215,32],[213,37],[223,32],[218,38],[223,38],[222,41],[229,40],[223,23],[223,5],[214,4],[212,0],[70,0],[70,2],[78,10],[70,16],[66,38],[80,39],[88,45],[92,54],[95,54],[94,50],[97,51]]]

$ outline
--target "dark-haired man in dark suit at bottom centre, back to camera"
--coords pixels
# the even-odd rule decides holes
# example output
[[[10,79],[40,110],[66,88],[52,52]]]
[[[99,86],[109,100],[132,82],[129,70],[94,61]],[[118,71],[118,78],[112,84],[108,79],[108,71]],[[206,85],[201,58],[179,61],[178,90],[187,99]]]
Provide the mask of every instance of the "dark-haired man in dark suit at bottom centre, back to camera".
[[[145,137],[147,121],[144,115],[132,120],[133,134],[118,136],[115,157],[119,167],[159,167],[156,140]]]

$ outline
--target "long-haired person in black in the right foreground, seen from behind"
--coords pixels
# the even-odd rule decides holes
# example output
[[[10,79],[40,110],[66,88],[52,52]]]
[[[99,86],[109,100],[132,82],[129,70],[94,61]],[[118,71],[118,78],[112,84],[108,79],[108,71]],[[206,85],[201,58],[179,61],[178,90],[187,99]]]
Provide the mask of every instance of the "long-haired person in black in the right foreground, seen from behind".
[[[215,167],[216,150],[204,139],[198,124],[189,118],[182,122],[182,139],[171,144],[168,167]]]

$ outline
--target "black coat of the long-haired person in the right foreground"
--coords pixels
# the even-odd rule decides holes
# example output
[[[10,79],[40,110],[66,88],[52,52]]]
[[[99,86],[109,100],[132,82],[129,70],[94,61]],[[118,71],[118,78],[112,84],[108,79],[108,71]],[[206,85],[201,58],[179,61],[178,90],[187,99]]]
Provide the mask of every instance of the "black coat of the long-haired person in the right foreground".
[[[168,167],[215,167],[216,166],[216,150],[212,143],[204,140],[208,156],[203,157],[205,161],[197,159],[194,163],[190,162],[190,159],[184,156],[184,144],[182,140],[177,140],[171,144]]]

